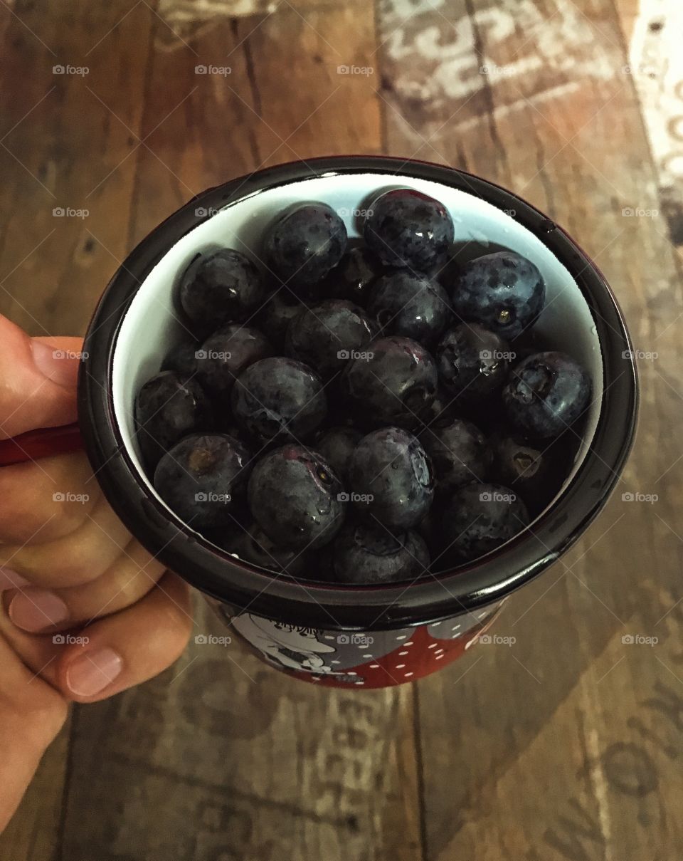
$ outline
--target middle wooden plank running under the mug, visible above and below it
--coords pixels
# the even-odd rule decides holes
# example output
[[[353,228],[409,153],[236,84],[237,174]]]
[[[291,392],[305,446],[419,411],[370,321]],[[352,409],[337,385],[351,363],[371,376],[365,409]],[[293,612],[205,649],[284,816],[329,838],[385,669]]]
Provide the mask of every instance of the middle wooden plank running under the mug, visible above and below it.
[[[219,22],[172,52],[158,34],[131,241],[189,195],[260,164],[323,154],[330,141],[378,152],[372,82],[336,70],[372,51],[365,3]],[[197,76],[200,64],[231,73]],[[198,634],[225,634],[203,602],[197,619]],[[194,643],[162,678],[79,712],[64,857],[262,861],[285,846],[302,861],[413,861],[414,717],[409,687],[318,690],[237,643]]]

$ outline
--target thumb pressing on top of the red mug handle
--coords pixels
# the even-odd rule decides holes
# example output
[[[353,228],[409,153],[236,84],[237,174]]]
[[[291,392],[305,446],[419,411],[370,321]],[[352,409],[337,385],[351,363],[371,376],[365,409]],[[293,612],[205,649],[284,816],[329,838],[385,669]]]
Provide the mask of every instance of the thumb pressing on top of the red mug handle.
[[[0,314],[0,439],[76,421],[82,338],[29,338]]]

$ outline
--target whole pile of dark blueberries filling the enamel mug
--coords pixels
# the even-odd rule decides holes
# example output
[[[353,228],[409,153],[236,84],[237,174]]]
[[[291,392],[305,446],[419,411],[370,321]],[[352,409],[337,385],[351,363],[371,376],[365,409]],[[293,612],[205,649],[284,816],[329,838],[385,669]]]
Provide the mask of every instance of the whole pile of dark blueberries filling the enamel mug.
[[[257,250],[198,254],[194,338],[138,392],[166,503],[278,575],[347,584],[439,573],[508,541],[569,472],[585,369],[532,326],[545,284],[513,251],[462,263],[446,208],[395,189],[348,240],[329,206],[279,215]]]

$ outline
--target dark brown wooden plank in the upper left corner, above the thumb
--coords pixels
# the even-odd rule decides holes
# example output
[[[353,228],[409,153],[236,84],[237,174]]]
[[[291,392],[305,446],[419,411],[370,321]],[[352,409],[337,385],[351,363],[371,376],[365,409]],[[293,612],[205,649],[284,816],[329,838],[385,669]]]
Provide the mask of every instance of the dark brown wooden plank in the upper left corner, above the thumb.
[[[126,251],[150,15],[0,7],[0,310],[31,334],[82,333]],[[89,72],[52,74],[69,65]]]

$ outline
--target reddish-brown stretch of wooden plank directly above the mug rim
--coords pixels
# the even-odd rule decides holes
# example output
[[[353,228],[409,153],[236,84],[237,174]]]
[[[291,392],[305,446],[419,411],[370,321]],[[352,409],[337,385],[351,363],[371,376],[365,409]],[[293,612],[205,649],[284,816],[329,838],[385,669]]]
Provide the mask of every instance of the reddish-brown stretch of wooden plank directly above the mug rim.
[[[249,170],[378,152],[375,76],[337,73],[339,65],[370,65],[372,45],[372,9],[356,2],[214,22],[182,53],[157,50],[131,244],[188,197]],[[195,74],[198,66],[225,71]]]

